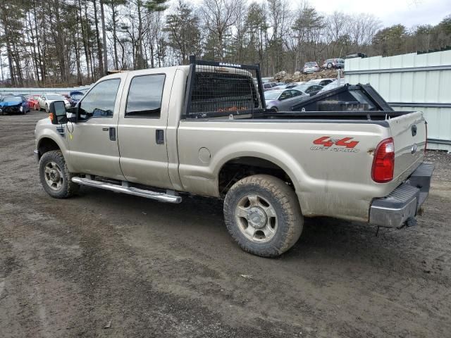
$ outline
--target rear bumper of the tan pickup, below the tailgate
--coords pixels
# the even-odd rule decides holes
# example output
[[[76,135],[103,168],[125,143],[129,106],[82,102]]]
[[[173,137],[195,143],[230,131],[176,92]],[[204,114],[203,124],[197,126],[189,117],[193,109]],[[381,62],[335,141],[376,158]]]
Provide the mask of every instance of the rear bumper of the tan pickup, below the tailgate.
[[[435,165],[421,163],[409,178],[388,196],[373,199],[369,223],[379,227],[401,227],[414,222],[421,204],[426,201]]]

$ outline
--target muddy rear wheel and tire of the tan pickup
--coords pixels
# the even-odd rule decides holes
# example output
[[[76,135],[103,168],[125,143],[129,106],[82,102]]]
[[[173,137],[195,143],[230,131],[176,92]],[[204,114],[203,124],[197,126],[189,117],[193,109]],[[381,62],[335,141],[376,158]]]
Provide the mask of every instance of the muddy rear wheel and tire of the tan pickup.
[[[293,189],[270,175],[252,175],[235,183],[224,201],[224,218],[237,244],[263,257],[290,249],[304,224]]]

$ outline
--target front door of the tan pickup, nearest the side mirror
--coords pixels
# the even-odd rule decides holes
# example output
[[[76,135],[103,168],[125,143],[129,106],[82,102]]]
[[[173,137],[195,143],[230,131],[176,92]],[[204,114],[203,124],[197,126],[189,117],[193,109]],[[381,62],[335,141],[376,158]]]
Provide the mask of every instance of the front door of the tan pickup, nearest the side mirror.
[[[124,180],[117,133],[121,77],[125,75],[97,82],[79,103],[78,122],[67,124],[69,154],[76,173]]]

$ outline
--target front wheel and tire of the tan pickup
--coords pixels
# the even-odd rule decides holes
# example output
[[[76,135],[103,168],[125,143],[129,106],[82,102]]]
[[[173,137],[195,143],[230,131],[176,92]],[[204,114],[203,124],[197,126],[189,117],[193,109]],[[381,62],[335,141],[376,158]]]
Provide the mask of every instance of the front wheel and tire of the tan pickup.
[[[73,196],[80,187],[72,182],[64,156],[59,150],[48,151],[39,160],[39,178],[42,187],[55,199]]]

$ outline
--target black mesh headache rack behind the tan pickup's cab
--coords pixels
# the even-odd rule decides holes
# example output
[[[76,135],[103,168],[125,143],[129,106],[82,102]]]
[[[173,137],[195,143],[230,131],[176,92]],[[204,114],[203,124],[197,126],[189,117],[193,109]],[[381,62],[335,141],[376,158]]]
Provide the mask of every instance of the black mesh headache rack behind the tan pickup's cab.
[[[190,56],[183,118],[254,117],[264,113],[259,65],[197,60]]]

